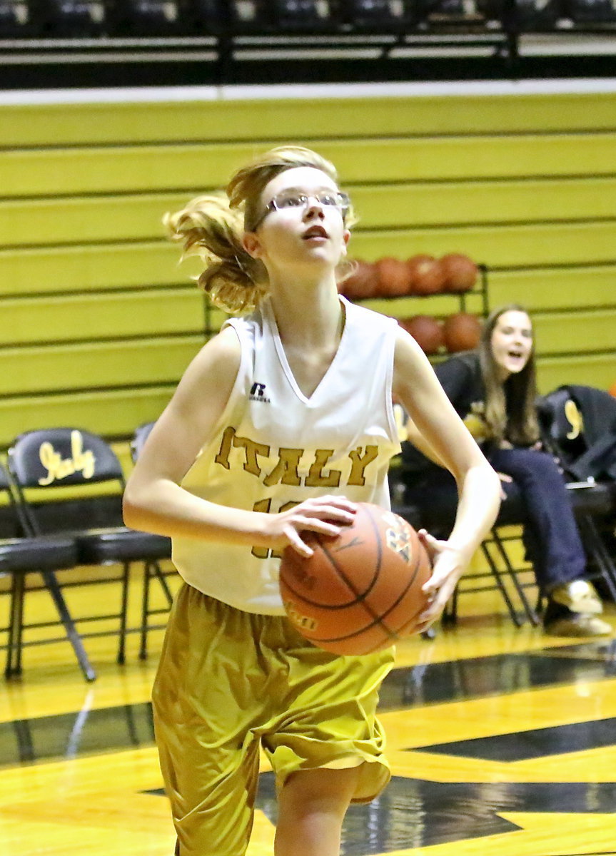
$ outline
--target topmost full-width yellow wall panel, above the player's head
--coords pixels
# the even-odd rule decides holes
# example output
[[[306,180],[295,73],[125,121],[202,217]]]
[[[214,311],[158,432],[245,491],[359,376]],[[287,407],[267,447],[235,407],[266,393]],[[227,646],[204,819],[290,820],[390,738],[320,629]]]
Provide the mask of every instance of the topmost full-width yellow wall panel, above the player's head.
[[[0,107],[3,146],[614,128],[613,92],[188,100]],[[94,99],[93,99],[94,100]]]

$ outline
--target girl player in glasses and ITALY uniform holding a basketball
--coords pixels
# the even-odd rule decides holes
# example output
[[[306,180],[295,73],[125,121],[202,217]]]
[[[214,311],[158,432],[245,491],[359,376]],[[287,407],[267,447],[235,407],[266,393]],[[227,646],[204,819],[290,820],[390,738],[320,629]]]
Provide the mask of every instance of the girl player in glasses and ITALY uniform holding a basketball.
[[[284,616],[279,559],[311,555],[356,502],[389,502],[392,394],[459,485],[451,537],[425,535],[440,615],[499,505],[499,480],[416,342],[338,295],[350,201],[331,163],[278,148],[239,169],[228,202],[167,218],[200,284],[238,317],[194,358],[125,493],[128,526],[170,536],[184,585],[153,688],[156,740],[179,856],[241,856],[260,747],[277,782],[276,856],[339,853],[344,813],[389,778],[375,716],[392,649],[338,657]]]

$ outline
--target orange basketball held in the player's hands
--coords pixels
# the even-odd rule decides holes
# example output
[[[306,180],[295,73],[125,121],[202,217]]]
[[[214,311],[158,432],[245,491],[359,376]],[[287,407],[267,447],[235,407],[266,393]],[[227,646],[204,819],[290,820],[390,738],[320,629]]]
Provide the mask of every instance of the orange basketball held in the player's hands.
[[[336,538],[310,533],[309,558],[287,547],[280,563],[284,609],[305,639],[335,654],[370,654],[416,633],[432,574],[419,537],[402,517],[358,503]]]

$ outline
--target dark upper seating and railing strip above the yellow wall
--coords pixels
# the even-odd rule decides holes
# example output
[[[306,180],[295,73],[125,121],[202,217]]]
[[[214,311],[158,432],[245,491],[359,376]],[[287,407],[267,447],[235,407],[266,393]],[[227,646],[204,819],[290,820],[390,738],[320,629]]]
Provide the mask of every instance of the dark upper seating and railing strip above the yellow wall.
[[[613,0],[0,0],[0,88],[616,76]]]

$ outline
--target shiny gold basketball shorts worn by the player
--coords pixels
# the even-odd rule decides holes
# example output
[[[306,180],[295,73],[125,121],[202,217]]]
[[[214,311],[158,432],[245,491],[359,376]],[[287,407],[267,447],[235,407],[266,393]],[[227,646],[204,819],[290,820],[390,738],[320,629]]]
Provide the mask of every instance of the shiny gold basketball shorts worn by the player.
[[[153,687],[176,853],[242,856],[260,747],[278,788],[297,770],[361,765],[353,801],[373,800],[391,775],[375,710],[392,663],[392,649],[321,651],[284,616],[242,612],[182,586]]]

